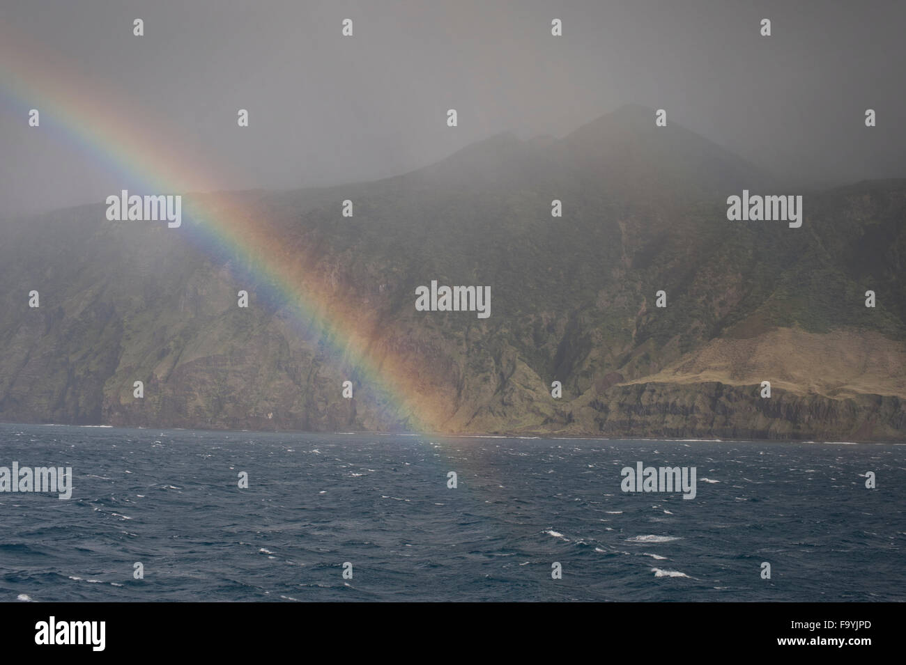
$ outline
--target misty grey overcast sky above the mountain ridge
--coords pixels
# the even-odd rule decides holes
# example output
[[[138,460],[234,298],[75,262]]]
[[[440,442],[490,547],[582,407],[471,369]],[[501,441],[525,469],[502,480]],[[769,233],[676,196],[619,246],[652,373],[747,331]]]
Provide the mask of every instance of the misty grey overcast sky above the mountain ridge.
[[[901,0],[0,0],[0,64],[39,88],[66,71],[146,140],[212,165],[187,192],[212,173],[228,189],[392,176],[629,102],[780,176],[843,183],[906,176],[904,26]],[[119,192],[121,172],[61,128],[67,109],[45,104],[30,128],[29,108],[4,75],[0,215]]]

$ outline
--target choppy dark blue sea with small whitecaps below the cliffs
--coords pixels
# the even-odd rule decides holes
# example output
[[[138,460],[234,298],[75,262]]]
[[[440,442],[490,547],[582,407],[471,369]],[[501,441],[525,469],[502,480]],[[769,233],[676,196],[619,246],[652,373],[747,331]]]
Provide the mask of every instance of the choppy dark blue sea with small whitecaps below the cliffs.
[[[74,478],[0,493],[2,601],[906,600],[903,445],[0,425],[13,461]]]

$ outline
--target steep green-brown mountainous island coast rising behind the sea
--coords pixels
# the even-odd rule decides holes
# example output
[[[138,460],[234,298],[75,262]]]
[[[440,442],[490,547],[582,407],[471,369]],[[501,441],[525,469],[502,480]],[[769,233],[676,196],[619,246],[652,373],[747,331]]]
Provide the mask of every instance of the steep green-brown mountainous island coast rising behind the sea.
[[[801,228],[728,222],[729,195],[765,186],[804,196]],[[267,252],[101,205],[0,226],[0,420],[904,438],[906,181],[787,192],[628,108],[564,139],[504,135],[406,176],[236,200],[254,212],[238,244],[276,239]],[[342,313],[356,343],[306,325],[256,261],[327,294],[318,314]],[[416,311],[430,280],[490,286],[491,316]],[[381,375],[405,390],[376,390]]]

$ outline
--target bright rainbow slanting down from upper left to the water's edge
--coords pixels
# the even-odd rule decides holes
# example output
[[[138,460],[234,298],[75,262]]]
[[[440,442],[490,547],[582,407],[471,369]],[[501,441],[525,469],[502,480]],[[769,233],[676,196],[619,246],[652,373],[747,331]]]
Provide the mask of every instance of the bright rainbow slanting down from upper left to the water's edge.
[[[28,109],[39,109],[42,129],[59,132],[92,163],[115,169],[121,188],[131,193],[178,194],[188,183],[206,191],[184,196],[182,227],[167,233],[186,233],[209,254],[239,257],[256,285],[265,285],[282,305],[282,313],[326,342],[343,366],[352,367],[379,406],[390,406],[412,430],[439,431],[446,409],[419,379],[413,361],[392,350],[375,350],[361,305],[339,301],[313,261],[287,252],[280,238],[266,233],[267,223],[256,217],[259,211],[237,195],[218,191],[211,165],[180,149],[145,109],[129,108],[72,63],[50,60],[43,47],[9,34],[0,34],[0,44],[0,94],[14,114],[21,113],[23,123]],[[338,399],[340,392],[338,385]]]

